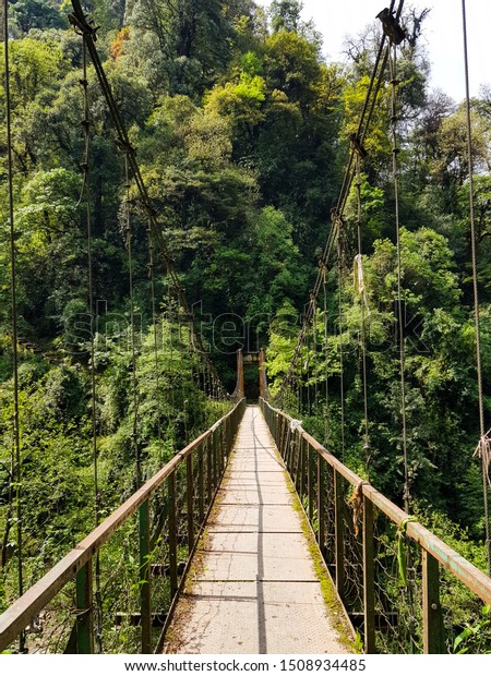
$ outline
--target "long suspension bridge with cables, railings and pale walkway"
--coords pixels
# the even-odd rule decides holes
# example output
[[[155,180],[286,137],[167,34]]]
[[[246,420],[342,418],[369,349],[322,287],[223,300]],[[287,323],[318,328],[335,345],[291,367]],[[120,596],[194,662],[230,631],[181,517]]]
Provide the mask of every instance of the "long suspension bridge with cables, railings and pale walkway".
[[[158,217],[148,196],[128,132],[100,63],[96,28],[73,0],[70,21],[84,45],[85,159],[84,191],[87,200],[87,251],[89,307],[92,287],[92,231],[88,195],[91,121],[87,61],[91,59],[106,97],[123,154],[125,168],[125,236],[134,326],[131,257],[131,204],[139,206],[148,224],[152,305],[155,250],[164,263],[177,313],[188,333],[188,349],[196,359],[195,379],[206,397],[226,402],[228,411],[197,438],[178,450],[152,478],[144,481],[137,444],[134,493],[118,509],[101,517],[97,487],[97,428],[95,411],[94,339],[89,370],[93,386],[93,430],[96,527],[29,589],[22,576],[22,443],[19,434],[19,389],[15,300],[15,230],[12,189],[10,116],[8,114],[12,307],[14,345],[14,443],[16,454],[19,599],[0,616],[0,650],[65,653],[111,652],[115,637],[125,632],[133,652],[151,653],[447,653],[453,652],[462,630],[455,616],[455,597],[466,591],[476,617],[491,604],[491,579],[458,555],[410,515],[410,482],[406,448],[405,340],[402,317],[400,242],[397,213],[397,46],[404,38],[399,26],[404,2],[395,1],[379,19],[383,23],[374,72],[367,93],[358,131],[351,137],[350,157],[332,213],[333,225],[319,264],[302,327],[280,391],[270,396],[264,352],[259,359],[259,402],[246,398],[243,355],[237,355],[237,386],[228,396],[207,357],[204,340],[189,309],[184,291],[167,251]],[[465,3],[464,3],[465,8]],[[9,98],[8,13],[4,13],[7,98]],[[403,507],[382,495],[356,474],[331,448],[302,426],[299,414],[319,409],[318,383],[308,376],[313,365],[307,354],[320,350],[313,324],[326,302],[326,275],[343,267],[344,210],[355,184],[358,196],[357,292],[361,307],[361,382],[364,389],[363,444],[370,449],[367,410],[366,316],[361,251],[360,171],[378,94],[390,69],[392,86],[392,144],[397,233],[396,309],[400,363],[400,419],[405,481]],[[467,97],[469,101],[469,97]],[[470,143],[470,140],[469,140]],[[469,158],[471,153],[469,152]],[[469,159],[469,161],[471,161]],[[472,176],[470,167],[469,176]],[[134,195],[133,195],[134,191]],[[472,216],[470,218],[472,226]],[[475,233],[471,236],[475,241]],[[155,254],[157,257],[157,254]],[[333,257],[336,263],[333,264]],[[474,267],[476,254],[472,250]],[[488,466],[482,382],[480,377],[479,303],[476,269],[477,362],[479,374],[480,448],[484,504],[488,505]],[[340,285],[342,275],[339,275]],[[320,314],[321,313],[321,314]],[[180,327],[181,330],[181,327]],[[137,390],[135,331],[130,331],[133,391]],[[155,358],[158,362],[157,331]],[[342,348],[340,348],[342,351]],[[310,357],[308,357],[308,360]],[[343,360],[343,352],[340,353]],[[325,398],[328,378],[325,378]],[[342,385],[343,394],[343,385]],[[134,406],[135,415],[137,406]],[[291,415],[295,413],[297,417]],[[342,410],[343,415],[343,410]],[[326,430],[330,421],[326,419]],[[135,422],[136,424],[136,422]],[[159,435],[163,432],[159,430]],[[478,447],[479,448],[479,447]],[[343,459],[343,458],[342,458]],[[368,466],[368,462],[367,462]],[[489,516],[486,512],[486,526]],[[486,534],[489,552],[489,530]],[[108,544],[112,548],[108,553]],[[128,559],[124,576],[113,552],[120,547]],[[109,593],[110,591],[110,593]],[[118,599],[129,599],[121,612]],[[110,599],[110,601],[107,601]],[[46,637],[49,640],[45,640]]]

